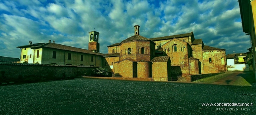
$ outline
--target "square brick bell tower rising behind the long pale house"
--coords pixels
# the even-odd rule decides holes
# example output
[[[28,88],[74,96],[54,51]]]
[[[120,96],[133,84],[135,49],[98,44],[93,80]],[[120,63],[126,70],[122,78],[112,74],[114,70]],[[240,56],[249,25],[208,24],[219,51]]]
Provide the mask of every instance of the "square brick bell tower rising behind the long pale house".
[[[99,42],[99,32],[92,31],[89,32],[89,43],[88,43],[88,50],[93,52],[100,52],[100,44]]]

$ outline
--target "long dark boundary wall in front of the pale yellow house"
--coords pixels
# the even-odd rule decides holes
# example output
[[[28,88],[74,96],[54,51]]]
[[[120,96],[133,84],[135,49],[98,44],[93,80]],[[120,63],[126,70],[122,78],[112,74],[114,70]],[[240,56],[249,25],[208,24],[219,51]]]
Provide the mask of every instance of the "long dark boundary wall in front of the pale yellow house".
[[[48,64],[23,64],[0,63],[0,78],[17,80],[18,77],[42,77],[48,79],[63,79],[64,77],[82,76],[84,73],[92,74],[96,67],[48,65]],[[49,78],[52,77],[52,78]]]

